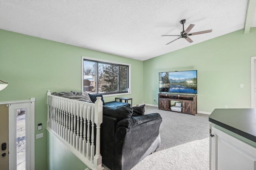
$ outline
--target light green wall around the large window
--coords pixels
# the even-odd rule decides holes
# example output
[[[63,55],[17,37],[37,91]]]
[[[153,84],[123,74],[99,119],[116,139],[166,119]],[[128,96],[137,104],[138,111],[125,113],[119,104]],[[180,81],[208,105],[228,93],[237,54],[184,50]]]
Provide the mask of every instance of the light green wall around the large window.
[[[143,79],[137,76],[143,73],[142,61],[0,30],[0,79],[8,82],[0,91],[0,102],[36,98],[35,134],[44,133],[44,138],[35,140],[36,170],[46,170],[47,165],[46,92],[81,91],[81,56],[131,64],[132,94],[124,96],[132,97],[134,105],[142,103]]]

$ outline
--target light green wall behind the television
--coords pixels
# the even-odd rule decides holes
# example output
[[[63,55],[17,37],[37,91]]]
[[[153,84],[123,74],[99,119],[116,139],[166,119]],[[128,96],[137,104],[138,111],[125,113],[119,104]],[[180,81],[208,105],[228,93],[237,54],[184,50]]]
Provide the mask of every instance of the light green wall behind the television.
[[[256,56],[255,45],[255,28],[250,34],[239,30],[144,61],[144,103],[157,105],[158,72],[198,70],[198,111],[211,113],[224,105],[250,108],[250,59]]]

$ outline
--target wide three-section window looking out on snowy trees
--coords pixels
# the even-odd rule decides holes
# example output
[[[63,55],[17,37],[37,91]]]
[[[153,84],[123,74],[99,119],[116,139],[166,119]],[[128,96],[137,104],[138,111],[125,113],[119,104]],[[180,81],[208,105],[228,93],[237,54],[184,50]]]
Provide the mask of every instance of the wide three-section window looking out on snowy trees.
[[[130,93],[130,65],[84,58],[82,88],[87,93]]]

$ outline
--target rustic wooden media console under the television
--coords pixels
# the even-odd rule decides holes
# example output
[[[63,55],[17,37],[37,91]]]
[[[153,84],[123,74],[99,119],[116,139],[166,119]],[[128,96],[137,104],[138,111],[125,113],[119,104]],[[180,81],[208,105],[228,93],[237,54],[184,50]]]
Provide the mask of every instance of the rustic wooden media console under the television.
[[[158,109],[172,111],[171,107],[175,106],[176,102],[182,104],[182,111],[180,113],[196,115],[197,95],[158,94]]]

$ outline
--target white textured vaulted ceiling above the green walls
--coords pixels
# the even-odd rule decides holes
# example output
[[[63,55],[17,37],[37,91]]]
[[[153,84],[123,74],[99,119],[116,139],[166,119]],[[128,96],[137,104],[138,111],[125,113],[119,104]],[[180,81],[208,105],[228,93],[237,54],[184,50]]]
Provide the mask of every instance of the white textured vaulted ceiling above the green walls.
[[[249,4],[249,5],[248,5]],[[138,60],[256,27],[256,0],[0,0],[0,29]],[[211,33],[166,45],[184,29]],[[248,30],[248,31],[246,31]]]

